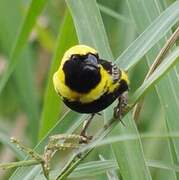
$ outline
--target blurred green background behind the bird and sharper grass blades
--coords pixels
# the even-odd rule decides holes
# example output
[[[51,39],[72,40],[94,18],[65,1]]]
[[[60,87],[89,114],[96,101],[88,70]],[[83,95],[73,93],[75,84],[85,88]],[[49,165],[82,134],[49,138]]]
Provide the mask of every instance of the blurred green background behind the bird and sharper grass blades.
[[[175,2],[175,0],[141,0],[139,2],[137,0],[98,0],[97,5],[113,59],[117,59],[167,7]],[[0,81],[6,68],[11,64],[10,60],[16,61],[14,71],[0,93],[1,163],[22,158],[22,156],[18,157],[20,152],[15,154],[6,146],[9,137],[18,137],[29,147],[35,147],[68,110],[56,95],[51,79],[65,50],[78,44],[79,34],[76,33],[76,26],[72,20],[74,14],[72,13],[71,17],[66,2],[63,0],[36,1],[36,4],[34,3],[36,9],[32,7],[30,20],[26,24],[26,33],[24,33],[28,34],[30,31],[28,39],[26,41],[25,38],[21,38],[19,47],[14,50],[24,19],[27,18],[29,7],[32,7],[30,0],[0,0]],[[34,24],[32,22],[33,15]],[[36,15],[38,16],[35,17]],[[175,27],[168,32],[168,37],[174,29]],[[129,70],[130,94],[133,94],[143,82],[149,64],[153,62],[163,47],[167,36],[145,54],[134,68]],[[15,52],[13,54],[13,51],[17,51],[18,55]],[[102,56],[106,57],[107,55]],[[113,59],[111,57],[109,60]],[[178,72],[177,69],[175,69],[176,72]],[[175,77],[171,75],[171,78],[174,80]],[[140,133],[160,133],[170,129],[170,125],[165,121],[169,117],[166,116],[165,101],[161,100],[159,89],[152,88],[145,95],[141,114],[136,121]],[[164,91],[164,88],[162,90]],[[177,90],[174,89],[175,92]],[[178,92],[175,95],[178,98]],[[166,92],[166,96],[169,97],[170,93]],[[171,103],[172,100],[168,106]],[[92,123],[90,133],[101,128],[103,121],[99,119],[101,117],[97,117]],[[175,125],[173,124],[173,126]],[[113,133],[118,134],[118,129],[116,128]],[[116,143],[114,147],[110,145],[99,147],[84,162],[99,160],[99,155],[107,159],[115,159],[114,154],[118,153],[117,146]],[[175,146],[175,142],[170,138],[167,140],[157,138],[142,140],[146,159],[161,160],[168,164],[178,163]],[[66,156],[66,153],[62,154]],[[162,164],[160,166],[162,167]],[[161,167],[150,168],[152,179],[178,179],[179,176],[175,168],[165,170]],[[0,171],[0,179],[8,179],[12,171]],[[121,174],[120,166],[119,170],[106,172],[99,174],[88,172],[89,174],[85,177],[77,177],[76,179],[128,179],[127,176]]]

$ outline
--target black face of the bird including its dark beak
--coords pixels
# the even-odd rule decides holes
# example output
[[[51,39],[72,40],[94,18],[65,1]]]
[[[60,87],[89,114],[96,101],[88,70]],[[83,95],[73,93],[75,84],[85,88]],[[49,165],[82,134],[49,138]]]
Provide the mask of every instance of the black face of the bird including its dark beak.
[[[87,93],[101,80],[97,55],[72,55],[63,66],[65,83],[72,90]]]

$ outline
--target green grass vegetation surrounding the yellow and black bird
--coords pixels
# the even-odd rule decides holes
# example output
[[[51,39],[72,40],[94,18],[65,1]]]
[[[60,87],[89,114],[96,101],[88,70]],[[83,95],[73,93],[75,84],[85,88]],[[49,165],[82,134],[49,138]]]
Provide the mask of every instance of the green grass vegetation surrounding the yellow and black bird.
[[[102,128],[115,103],[97,115],[88,130],[95,140],[59,151],[51,179],[177,180],[178,9],[177,0],[0,0],[0,166],[22,166],[11,164],[1,179],[45,179],[11,136],[43,154],[49,136],[80,132],[87,116],[65,107],[52,76],[81,43],[128,71],[129,108],[125,126]]]

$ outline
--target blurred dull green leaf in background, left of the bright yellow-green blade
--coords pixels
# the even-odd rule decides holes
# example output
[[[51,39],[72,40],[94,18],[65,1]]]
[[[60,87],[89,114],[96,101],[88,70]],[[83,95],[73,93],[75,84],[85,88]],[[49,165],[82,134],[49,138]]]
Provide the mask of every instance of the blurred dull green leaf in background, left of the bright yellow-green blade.
[[[38,140],[39,130],[39,102],[37,98],[37,87],[35,86],[32,54],[30,47],[24,48],[21,52],[19,65],[13,76],[13,80],[15,80],[13,86],[16,91],[16,96],[18,97],[18,103],[27,114],[28,135],[32,145],[35,145]]]

